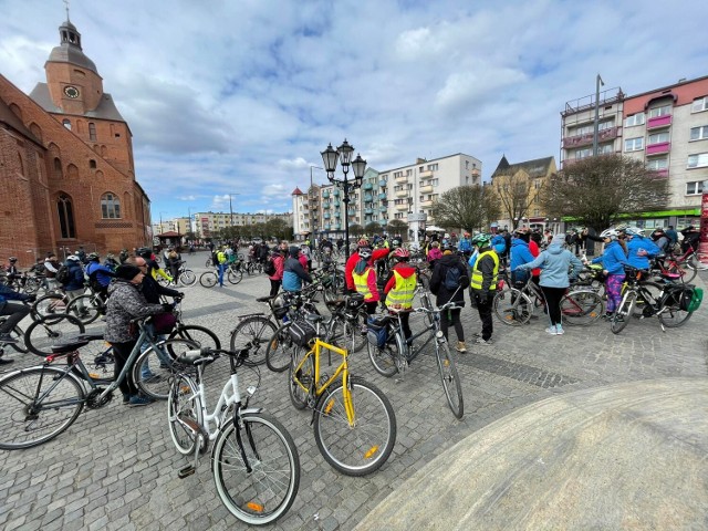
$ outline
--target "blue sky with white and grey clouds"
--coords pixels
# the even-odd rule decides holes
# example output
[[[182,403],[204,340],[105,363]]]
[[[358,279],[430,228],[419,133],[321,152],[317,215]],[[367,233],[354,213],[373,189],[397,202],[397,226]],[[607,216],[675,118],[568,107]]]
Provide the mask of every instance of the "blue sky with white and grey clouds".
[[[0,0],[0,73],[29,93],[61,0]],[[153,218],[288,211],[346,137],[385,170],[465,153],[487,180],[559,157],[565,102],[708,75],[704,0],[72,0],[133,132]]]

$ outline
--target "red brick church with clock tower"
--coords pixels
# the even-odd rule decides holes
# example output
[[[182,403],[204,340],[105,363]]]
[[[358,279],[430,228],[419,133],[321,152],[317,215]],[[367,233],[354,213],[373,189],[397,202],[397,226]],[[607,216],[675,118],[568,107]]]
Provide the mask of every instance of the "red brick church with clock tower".
[[[128,124],[69,21],[28,96],[0,75],[0,261],[118,252],[150,240]]]

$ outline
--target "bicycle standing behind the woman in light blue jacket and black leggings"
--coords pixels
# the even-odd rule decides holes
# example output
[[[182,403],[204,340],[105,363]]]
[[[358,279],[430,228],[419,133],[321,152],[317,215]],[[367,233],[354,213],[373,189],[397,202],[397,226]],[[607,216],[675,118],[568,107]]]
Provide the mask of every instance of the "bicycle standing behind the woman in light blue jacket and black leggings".
[[[492,308],[497,317],[510,326],[521,326],[533,316],[535,308],[545,306],[541,288],[529,278],[519,288],[494,294]],[[603,301],[590,289],[569,289],[561,298],[561,316],[570,325],[587,326],[603,315]]]

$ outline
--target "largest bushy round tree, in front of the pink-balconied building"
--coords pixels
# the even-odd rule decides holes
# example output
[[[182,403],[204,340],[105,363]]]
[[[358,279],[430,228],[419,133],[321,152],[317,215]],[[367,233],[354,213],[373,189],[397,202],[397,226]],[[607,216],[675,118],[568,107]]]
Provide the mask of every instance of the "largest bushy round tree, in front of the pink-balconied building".
[[[613,154],[566,163],[551,177],[541,202],[550,216],[604,230],[624,214],[659,209],[668,199],[666,178],[642,160]]]

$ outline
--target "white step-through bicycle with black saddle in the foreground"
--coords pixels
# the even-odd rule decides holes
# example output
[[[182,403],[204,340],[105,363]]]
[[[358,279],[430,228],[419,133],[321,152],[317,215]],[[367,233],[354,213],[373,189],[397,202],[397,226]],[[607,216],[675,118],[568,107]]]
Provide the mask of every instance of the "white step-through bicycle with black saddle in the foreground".
[[[209,413],[204,369],[221,355],[229,357],[230,378]],[[238,368],[248,355],[248,350],[211,348],[180,355],[178,362],[190,366],[195,374],[185,372],[175,377],[167,415],[177,451],[194,455],[194,464],[181,468],[178,477],[195,473],[199,455],[214,441],[211,471],[221,502],[242,522],[261,525],[278,520],[292,506],[300,486],[300,457],[282,424],[260,409],[248,407],[258,386],[249,387],[242,399]]]

